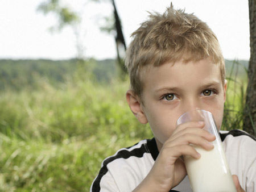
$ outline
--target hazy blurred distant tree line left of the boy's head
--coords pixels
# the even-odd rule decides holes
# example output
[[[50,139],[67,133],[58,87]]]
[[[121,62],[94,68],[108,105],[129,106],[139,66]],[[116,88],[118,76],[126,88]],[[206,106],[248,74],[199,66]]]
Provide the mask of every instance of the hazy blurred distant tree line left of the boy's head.
[[[86,70],[89,68],[94,80],[101,84],[108,84],[117,76],[114,59],[90,59],[86,62]],[[44,82],[57,87],[70,78],[76,78],[79,70],[77,59],[0,60],[0,91],[40,89]]]

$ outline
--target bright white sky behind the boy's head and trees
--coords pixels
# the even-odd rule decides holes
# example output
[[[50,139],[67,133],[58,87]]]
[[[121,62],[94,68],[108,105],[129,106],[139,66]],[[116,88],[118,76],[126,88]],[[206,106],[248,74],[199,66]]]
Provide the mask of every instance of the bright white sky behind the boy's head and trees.
[[[77,36],[72,27],[51,32],[55,15],[37,10],[48,0],[0,1],[0,59],[71,59],[77,56]],[[115,58],[113,34],[100,31],[104,17],[113,12],[108,0],[60,0],[79,12],[79,41],[85,57]],[[170,3],[206,22],[216,34],[225,59],[250,59],[249,8],[241,0],[115,0],[126,44],[130,34],[147,19],[148,12],[164,12]]]

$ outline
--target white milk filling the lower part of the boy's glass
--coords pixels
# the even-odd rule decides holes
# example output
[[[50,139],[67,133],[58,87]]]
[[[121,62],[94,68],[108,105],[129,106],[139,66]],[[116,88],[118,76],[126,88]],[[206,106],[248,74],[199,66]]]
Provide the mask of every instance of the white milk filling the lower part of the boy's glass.
[[[193,192],[236,192],[224,151],[217,140],[210,151],[193,145],[200,153],[199,159],[184,156],[188,178]]]

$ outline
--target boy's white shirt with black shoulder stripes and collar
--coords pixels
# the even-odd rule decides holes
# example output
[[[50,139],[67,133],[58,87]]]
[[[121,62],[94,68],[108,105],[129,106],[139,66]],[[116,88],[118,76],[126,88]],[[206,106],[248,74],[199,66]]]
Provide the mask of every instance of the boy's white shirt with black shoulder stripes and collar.
[[[231,173],[238,176],[245,191],[256,191],[255,138],[241,130],[220,131],[220,137]],[[90,191],[131,192],[147,176],[158,154],[154,138],[119,149],[102,162]],[[171,191],[192,191],[188,177]]]

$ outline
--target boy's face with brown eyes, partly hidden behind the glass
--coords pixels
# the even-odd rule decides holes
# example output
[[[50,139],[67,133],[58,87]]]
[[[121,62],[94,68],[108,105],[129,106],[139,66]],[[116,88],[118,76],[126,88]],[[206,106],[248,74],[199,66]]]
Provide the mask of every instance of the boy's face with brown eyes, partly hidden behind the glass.
[[[220,130],[226,82],[222,85],[220,68],[209,59],[152,67],[143,82],[143,104],[135,95],[137,107],[130,105],[130,99],[127,101],[138,120],[150,124],[158,148],[175,130],[179,116],[187,111],[210,111]]]

